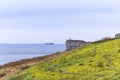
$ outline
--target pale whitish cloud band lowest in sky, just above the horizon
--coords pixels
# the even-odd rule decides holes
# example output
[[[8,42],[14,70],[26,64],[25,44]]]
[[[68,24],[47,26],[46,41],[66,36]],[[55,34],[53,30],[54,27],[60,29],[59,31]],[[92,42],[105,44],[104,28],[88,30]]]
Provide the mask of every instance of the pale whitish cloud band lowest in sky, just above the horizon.
[[[64,43],[70,37],[72,39],[94,41],[105,36],[114,37],[117,28],[49,28],[49,29],[0,29],[0,43]]]

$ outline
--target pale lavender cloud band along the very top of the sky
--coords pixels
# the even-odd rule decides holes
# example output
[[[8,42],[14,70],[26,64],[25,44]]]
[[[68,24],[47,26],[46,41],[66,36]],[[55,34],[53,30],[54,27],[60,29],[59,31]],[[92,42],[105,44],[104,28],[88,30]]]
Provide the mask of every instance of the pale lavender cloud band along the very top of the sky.
[[[119,0],[1,0],[0,13],[120,12]]]

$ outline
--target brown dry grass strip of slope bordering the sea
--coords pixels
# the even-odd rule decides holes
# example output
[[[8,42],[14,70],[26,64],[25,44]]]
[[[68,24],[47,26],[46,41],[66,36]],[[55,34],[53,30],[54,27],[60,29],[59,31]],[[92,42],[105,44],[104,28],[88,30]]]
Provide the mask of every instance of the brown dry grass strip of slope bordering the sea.
[[[5,65],[2,65],[0,66],[0,80],[7,80],[12,75],[18,74],[21,71],[24,71],[37,64],[48,62],[63,54],[64,52],[58,52],[58,53],[54,53],[51,55],[46,55],[46,56],[36,57],[36,58],[31,58],[31,59],[24,59],[24,60],[11,62]]]

